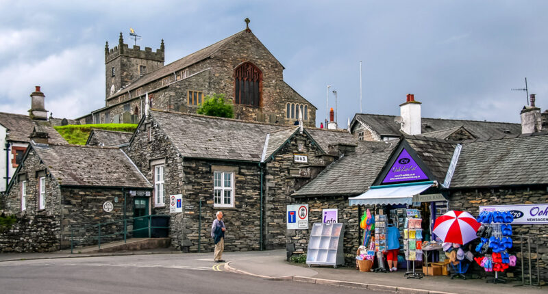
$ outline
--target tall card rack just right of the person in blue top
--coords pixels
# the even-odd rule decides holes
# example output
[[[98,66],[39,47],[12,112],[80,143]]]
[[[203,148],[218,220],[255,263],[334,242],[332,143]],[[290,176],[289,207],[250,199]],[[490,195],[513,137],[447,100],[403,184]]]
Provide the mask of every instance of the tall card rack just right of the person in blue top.
[[[406,219],[405,229],[403,229],[403,249],[406,252],[407,260],[407,271],[403,274],[403,276],[408,279],[421,279],[424,276],[423,273],[417,273],[415,269],[415,261],[422,260],[423,254],[423,251],[421,250],[422,247],[420,245],[417,246],[417,244],[422,243],[423,239],[421,222],[421,218],[408,217]],[[412,264],[411,266],[410,263]]]

